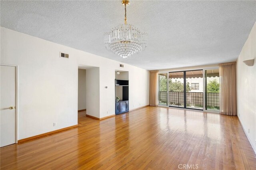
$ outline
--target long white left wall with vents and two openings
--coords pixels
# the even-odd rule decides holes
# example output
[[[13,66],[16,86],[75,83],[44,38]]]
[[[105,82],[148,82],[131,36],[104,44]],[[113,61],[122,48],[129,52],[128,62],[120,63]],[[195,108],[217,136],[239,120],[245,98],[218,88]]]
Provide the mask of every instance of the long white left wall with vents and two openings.
[[[60,58],[60,51],[70,58]],[[129,71],[130,109],[149,103],[148,70],[6,28],[1,28],[1,64],[18,65],[18,140],[77,125],[78,65],[99,67],[100,109],[92,108],[91,115],[114,115],[115,70]]]

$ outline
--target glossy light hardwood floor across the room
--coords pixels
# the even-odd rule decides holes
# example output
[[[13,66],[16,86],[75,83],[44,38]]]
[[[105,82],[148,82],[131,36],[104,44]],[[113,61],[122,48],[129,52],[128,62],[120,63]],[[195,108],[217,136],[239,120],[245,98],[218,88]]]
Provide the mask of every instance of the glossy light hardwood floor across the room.
[[[237,117],[163,107],[102,121],[85,114],[78,128],[2,147],[1,169],[256,170]]]

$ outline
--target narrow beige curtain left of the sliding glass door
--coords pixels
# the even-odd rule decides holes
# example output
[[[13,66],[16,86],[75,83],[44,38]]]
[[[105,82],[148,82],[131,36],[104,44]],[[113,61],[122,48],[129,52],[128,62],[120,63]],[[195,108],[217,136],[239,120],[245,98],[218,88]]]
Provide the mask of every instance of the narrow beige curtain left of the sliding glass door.
[[[158,70],[150,71],[149,76],[149,105],[157,106],[157,75]]]

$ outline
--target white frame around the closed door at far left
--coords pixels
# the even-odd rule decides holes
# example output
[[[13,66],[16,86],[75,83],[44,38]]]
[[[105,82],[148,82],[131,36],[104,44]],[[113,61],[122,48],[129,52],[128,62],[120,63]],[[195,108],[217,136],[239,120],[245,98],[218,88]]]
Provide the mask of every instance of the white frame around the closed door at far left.
[[[18,65],[0,64],[15,67],[15,143],[18,143]]]

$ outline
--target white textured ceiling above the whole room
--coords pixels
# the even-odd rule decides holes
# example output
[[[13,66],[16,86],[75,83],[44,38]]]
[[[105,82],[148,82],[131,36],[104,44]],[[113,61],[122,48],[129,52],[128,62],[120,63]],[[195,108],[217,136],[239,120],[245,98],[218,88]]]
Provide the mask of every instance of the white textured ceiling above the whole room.
[[[0,3],[2,27],[149,70],[234,61],[256,20],[256,1],[132,0],[128,22],[148,33],[148,47],[122,59],[103,43],[123,22],[121,0]]]

